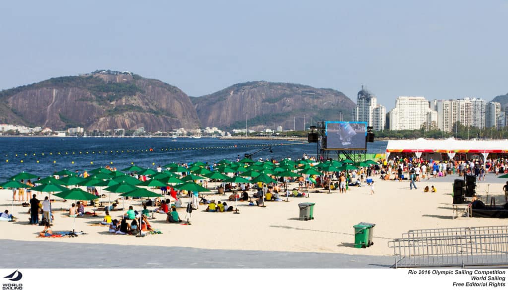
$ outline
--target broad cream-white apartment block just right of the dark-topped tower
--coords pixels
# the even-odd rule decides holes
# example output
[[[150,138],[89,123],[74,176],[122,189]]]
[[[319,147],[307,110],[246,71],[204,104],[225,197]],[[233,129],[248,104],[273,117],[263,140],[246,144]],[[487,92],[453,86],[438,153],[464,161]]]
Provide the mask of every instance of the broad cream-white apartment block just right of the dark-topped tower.
[[[437,127],[437,112],[423,96],[399,96],[389,113],[390,130],[426,130]]]

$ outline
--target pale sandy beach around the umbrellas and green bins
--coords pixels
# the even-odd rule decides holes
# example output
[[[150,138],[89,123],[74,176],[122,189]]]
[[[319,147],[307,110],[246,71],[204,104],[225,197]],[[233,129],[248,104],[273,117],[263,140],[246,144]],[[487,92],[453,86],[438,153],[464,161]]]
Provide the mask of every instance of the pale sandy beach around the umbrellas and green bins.
[[[38,238],[43,227],[29,225],[28,207],[21,207],[20,202],[14,203],[15,222],[0,222],[3,239],[20,241],[45,241],[65,243],[117,244],[117,245],[150,245],[150,246],[181,246],[204,249],[242,249],[263,251],[294,251],[345,253],[365,255],[391,255],[393,249],[388,241],[400,237],[402,233],[413,229],[475,227],[486,225],[504,225],[505,219],[468,218],[452,219],[452,182],[457,175],[444,178],[431,178],[417,182],[418,189],[410,190],[408,181],[382,181],[375,178],[375,194],[370,195],[370,187],[351,187],[346,194],[337,191],[320,189],[322,193],[312,193],[309,198],[289,198],[289,202],[266,202],[266,208],[247,206],[239,202],[240,214],[231,212],[205,212],[205,205],[200,205],[190,217],[192,225],[170,224],[166,215],[155,213],[150,220],[154,229],[163,234],[149,235],[144,238],[121,236],[108,233],[108,227],[91,226],[99,223],[104,217],[98,211],[98,217],[76,218],[76,231],[87,235],[76,238]],[[501,188],[505,179],[493,174],[487,175],[487,181],[478,182],[477,194],[486,201],[486,190],[490,197],[496,198],[496,204],[504,204]],[[487,186],[490,184],[490,186]],[[434,185],[436,193],[423,192],[423,188]],[[209,187],[212,183],[209,183]],[[290,188],[293,184],[290,185]],[[103,192],[107,194],[107,192]],[[252,192],[250,192],[252,194]],[[46,194],[39,194],[43,200]],[[215,201],[226,200],[227,196],[208,196]],[[1,190],[0,200],[2,211],[11,213],[11,190]],[[112,194],[112,199],[116,194]],[[53,231],[72,230],[73,218],[67,216],[72,201],[53,203]],[[107,198],[102,201],[107,202]],[[284,198],[285,200],[285,198]],[[183,198],[184,204],[188,198]],[[298,219],[298,203],[313,202],[314,220]],[[228,202],[235,205],[235,202]],[[120,203],[120,206],[122,204]],[[140,200],[128,200],[125,206],[133,205],[140,209]],[[87,207],[87,211],[93,211]],[[118,218],[125,211],[113,211],[113,218]],[[180,218],[185,219],[185,211],[179,210]],[[374,245],[369,248],[354,248],[353,225],[358,222],[375,223]]]

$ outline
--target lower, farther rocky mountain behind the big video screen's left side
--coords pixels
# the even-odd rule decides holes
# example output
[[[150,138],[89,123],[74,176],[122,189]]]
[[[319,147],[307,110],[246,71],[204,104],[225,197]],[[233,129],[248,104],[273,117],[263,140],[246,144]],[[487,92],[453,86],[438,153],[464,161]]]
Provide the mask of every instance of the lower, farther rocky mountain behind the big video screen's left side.
[[[239,83],[199,98],[191,98],[203,127],[263,127],[303,130],[310,121],[348,120],[355,103],[342,92],[292,83]],[[248,114],[246,114],[248,113]]]

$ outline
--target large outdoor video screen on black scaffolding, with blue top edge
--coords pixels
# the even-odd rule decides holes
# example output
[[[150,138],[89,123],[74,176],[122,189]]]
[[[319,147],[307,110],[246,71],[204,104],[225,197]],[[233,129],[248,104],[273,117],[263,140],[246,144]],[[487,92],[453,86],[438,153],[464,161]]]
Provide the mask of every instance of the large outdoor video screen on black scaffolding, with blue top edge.
[[[321,121],[317,124],[317,156],[319,160],[330,158],[330,152],[337,154],[337,159],[363,161],[367,152],[367,123]],[[373,137],[373,136],[372,136]]]

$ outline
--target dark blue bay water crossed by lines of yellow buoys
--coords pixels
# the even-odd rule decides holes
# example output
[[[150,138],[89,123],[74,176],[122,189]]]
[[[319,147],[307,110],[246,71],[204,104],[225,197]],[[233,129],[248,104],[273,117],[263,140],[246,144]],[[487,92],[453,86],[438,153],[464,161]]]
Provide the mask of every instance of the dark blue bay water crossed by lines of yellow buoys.
[[[315,143],[285,140],[231,140],[216,138],[58,138],[3,137],[0,138],[0,180],[21,171],[49,176],[61,169],[90,170],[112,166],[118,170],[135,164],[156,168],[168,163],[217,162],[221,159],[243,158],[245,153],[264,149],[253,159],[291,157],[304,153],[315,155]],[[385,152],[387,142],[368,143],[368,153]]]

